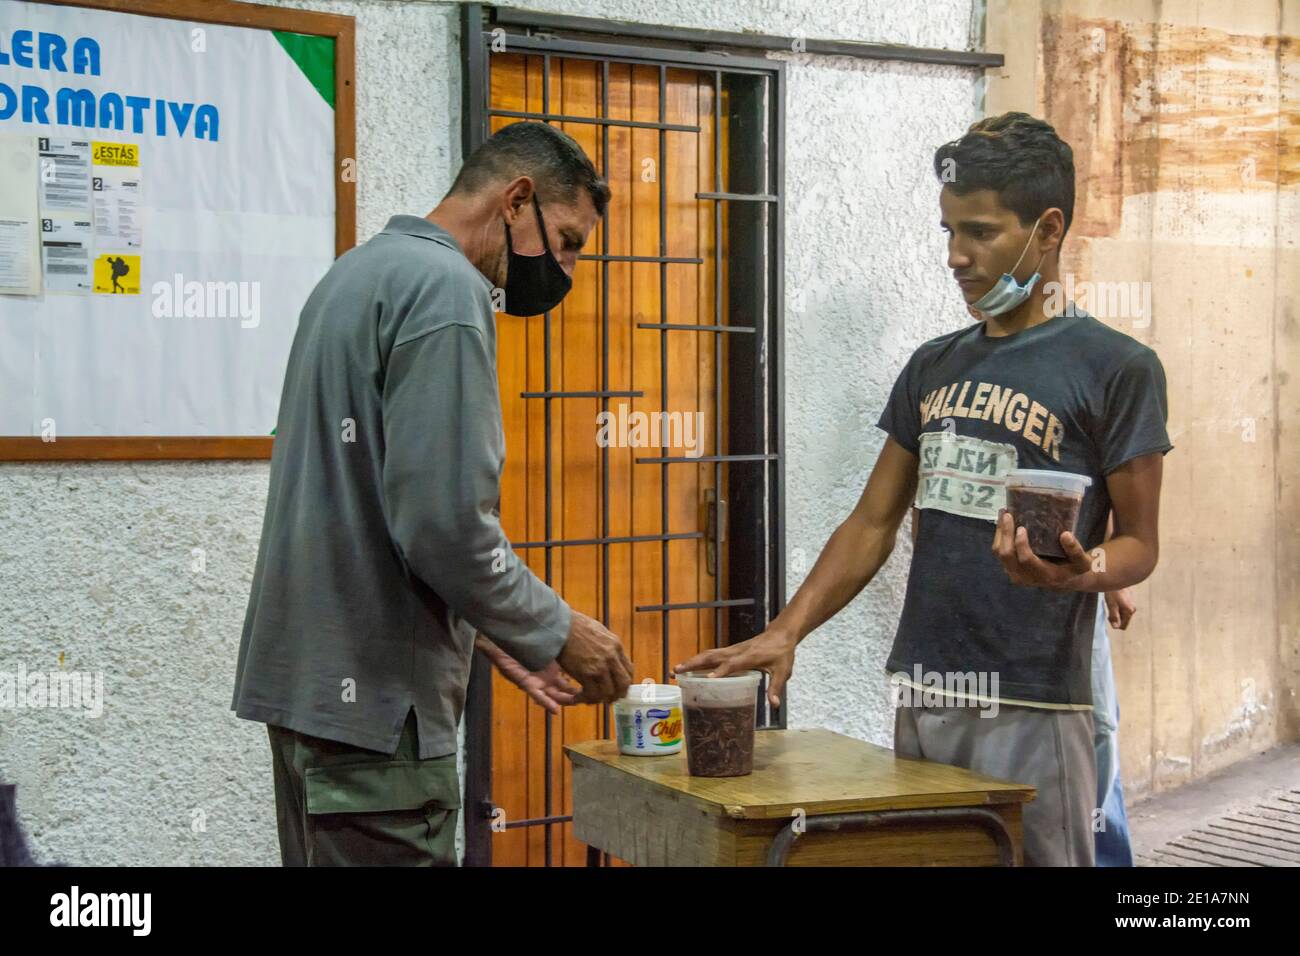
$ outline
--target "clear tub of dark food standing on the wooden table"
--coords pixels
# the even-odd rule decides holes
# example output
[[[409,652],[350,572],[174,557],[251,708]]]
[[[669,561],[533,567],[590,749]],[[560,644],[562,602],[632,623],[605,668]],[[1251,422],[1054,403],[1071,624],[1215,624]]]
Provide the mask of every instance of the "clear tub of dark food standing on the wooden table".
[[[725,678],[706,671],[677,675],[686,718],[686,769],[692,777],[744,777],[754,771],[754,714],[759,671]]]

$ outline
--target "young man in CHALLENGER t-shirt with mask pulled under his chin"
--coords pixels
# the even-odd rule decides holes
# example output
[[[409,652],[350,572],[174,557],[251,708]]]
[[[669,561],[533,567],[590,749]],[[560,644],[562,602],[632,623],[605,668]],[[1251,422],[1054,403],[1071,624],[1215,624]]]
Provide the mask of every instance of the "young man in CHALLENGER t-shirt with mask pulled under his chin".
[[[935,172],[948,268],[980,321],[913,354],[880,416],[889,437],[867,486],[785,610],[677,670],[767,670],[779,705],[798,643],[871,580],[915,506],[885,665],[906,698],[894,749],[1032,784],[1024,861],[1091,866],[1097,601],[1156,567],[1173,447],[1165,372],[1149,347],[1060,295],[1074,160],[1048,124],[983,120],[939,148]],[[1075,533],[1060,537],[1063,559],[1035,555],[1005,511],[1013,468],[1091,479]]]

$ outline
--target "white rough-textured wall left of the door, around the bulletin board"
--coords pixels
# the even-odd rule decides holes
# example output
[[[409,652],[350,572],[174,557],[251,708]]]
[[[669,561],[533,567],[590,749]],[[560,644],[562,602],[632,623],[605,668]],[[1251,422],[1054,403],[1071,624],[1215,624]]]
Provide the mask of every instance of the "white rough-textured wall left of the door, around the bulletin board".
[[[356,17],[359,241],[422,216],[460,160],[458,8],[281,5]],[[265,462],[0,464],[0,666],[62,653],[103,672],[107,698],[98,719],[0,714],[0,774],[40,858],[278,864],[266,731],[229,709],[266,477]]]

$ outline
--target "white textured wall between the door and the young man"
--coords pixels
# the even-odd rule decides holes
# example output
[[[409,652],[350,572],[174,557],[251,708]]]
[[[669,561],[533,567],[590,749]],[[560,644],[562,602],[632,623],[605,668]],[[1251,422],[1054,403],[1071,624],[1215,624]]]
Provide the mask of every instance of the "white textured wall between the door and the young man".
[[[867,483],[885,438],[876,420],[907,358],[926,339],[968,323],[944,265],[931,161],[936,146],[975,120],[975,72],[785,59],[788,302],[806,290],[805,311],[788,308],[785,321],[793,596]],[[884,663],[907,584],[909,527],[876,579],[801,645],[790,726],[893,745]]]

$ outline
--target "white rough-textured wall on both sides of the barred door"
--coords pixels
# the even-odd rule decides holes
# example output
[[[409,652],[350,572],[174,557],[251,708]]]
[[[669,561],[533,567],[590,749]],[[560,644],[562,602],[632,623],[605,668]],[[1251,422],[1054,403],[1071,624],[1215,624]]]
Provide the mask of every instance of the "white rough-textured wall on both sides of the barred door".
[[[358,21],[358,238],[422,215],[460,159],[455,4],[281,0]],[[532,0],[576,16],[967,48],[970,0]],[[789,62],[785,281],[789,591],[857,499],[911,349],[965,321],[930,157],[978,72]],[[99,718],[0,713],[0,777],[44,861],[278,864],[266,735],[229,711],[265,463],[0,464],[0,669],[104,675]],[[192,570],[194,549],[205,568]],[[792,726],[892,739],[883,663],[909,548],[800,652]],[[309,574],[309,568],[304,568]],[[205,830],[194,821],[203,814]]]

